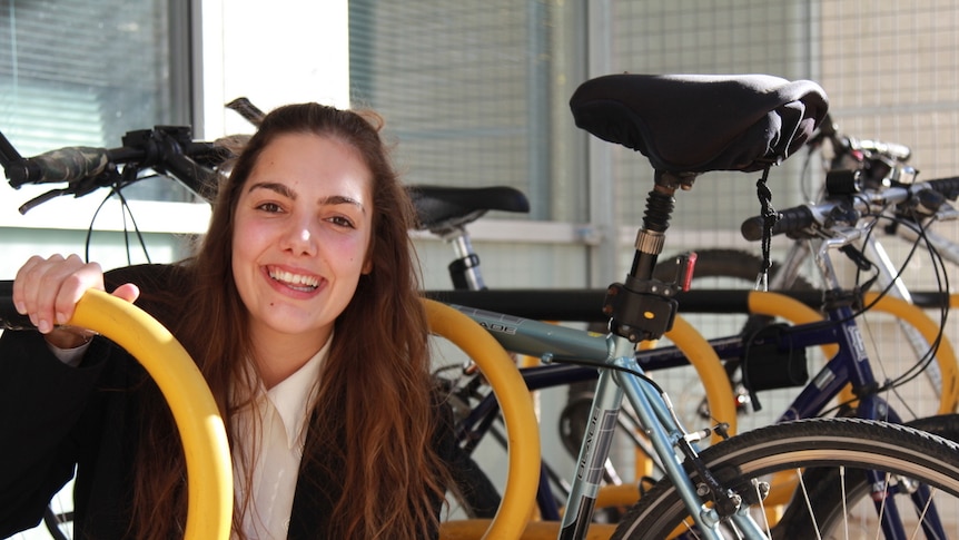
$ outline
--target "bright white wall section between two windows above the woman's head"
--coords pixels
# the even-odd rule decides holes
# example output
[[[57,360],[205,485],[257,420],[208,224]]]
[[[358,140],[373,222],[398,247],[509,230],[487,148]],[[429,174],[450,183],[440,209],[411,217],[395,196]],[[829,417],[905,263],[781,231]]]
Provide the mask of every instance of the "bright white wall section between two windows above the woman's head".
[[[267,111],[349,105],[346,0],[202,0],[199,10],[199,137],[249,131],[224,108],[241,96]]]

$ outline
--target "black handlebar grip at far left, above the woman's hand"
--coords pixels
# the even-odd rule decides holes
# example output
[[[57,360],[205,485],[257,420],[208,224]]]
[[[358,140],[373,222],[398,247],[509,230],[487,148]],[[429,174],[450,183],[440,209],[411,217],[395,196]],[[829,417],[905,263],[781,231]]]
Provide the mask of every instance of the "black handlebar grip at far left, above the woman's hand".
[[[75,146],[47,151],[7,166],[10,185],[70,183],[101,174],[110,165],[106,148]]]

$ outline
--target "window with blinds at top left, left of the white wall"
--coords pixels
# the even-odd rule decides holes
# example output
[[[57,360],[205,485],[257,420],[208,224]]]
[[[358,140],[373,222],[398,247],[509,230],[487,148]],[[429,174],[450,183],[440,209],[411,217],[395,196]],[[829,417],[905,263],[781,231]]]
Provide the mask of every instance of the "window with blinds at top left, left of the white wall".
[[[0,131],[23,156],[117,147],[123,134],[190,125],[185,0],[8,0],[0,11]],[[190,200],[175,183],[130,198]]]

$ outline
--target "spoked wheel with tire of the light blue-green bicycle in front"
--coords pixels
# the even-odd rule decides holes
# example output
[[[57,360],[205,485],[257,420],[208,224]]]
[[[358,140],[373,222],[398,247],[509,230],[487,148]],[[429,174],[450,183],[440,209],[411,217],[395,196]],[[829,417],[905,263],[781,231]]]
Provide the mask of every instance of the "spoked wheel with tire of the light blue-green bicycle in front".
[[[858,419],[800,420],[736,435],[704,450],[701,458],[720,482],[745,501],[758,499],[753,495],[753,481],[769,482],[773,474],[792,474],[800,480],[799,488],[790,489],[793,498],[789,509],[771,527],[770,538],[831,538],[833,532],[837,538],[882,538],[876,532],[878,520],[897,511],[906,522],[906,534],[884,538],[916,538],[913,532],[922,532],[921,527],[933,517],[951,521],[947,524],[952,531],[948,537],[959,537],[955,523],[959,516],[959,445],[919,430]],[[884,491],[872,493],[872,484],[861,471],[879,472]],[[836,479],[839,481],[834,482]],[[920,485],[935,493],[933,504],[928,509],[920,505],[912,512],[909,494],[923,492],[914,489]],[[830,489],[837,493],[825,503],[810,502]],[[773,498],[771,493],[764,503]],[[873,500],[879,501],[879,508],[873,508]],[[827,509],[827,503],[832,504],[829,512],[817,514]],[[794,510],[803,504],[812,509],[814,523],[809,512]],[[764,526],[762,516],[767,508],[760,504],[751,508],[758,522]],[[660,481],[640,498],[613,538],[693,536],[689,516],[672,483]],[[871,532],[863,532],[869,528]]]

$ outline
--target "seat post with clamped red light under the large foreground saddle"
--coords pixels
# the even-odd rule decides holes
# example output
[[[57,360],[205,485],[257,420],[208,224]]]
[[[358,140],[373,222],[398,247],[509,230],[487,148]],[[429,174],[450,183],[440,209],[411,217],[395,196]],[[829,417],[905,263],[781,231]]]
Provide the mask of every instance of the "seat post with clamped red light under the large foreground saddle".
[[[653,268],[663,251],[676,189],[692,188],[695,174],[656,171],[655,186],[646,196],[643,226],[636,233],[635,255],[625,283],[606,291],[603,313],[610,316],[610,332],[633,343],[658,340],[673,326],[679,303],[679,285],[653,278]],[[681,268],[681,274],[684,273]]]

